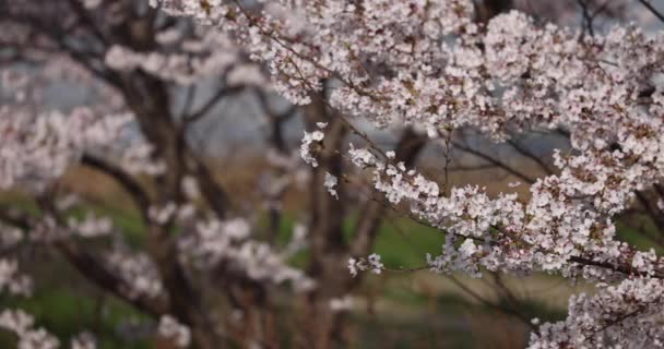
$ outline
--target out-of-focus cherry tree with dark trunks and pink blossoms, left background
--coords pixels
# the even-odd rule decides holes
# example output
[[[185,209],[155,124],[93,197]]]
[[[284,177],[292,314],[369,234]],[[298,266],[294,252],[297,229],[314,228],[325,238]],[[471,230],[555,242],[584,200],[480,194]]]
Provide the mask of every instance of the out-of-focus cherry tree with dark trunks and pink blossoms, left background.
[[[342,341],[346,294],[360,281],[347,273],[347,260],[370,254],[387,208],[361,181],[339,188],[341,156],[317,154],[317,167],[304,166],[300,153],[310,148],[285,135],[286,123],[301,118],[319,130],[309,145],[318,146],[324,130],[329,147],[341,147],[351,133],[336,112],[323,103],[280,107],[265,65],[251,61],[233,35],[147,1],[1,1],[0,10],[0,189],[21,191],[31,207],[0,209],[3,293],[29,297],[40,287],[29,275],[29,252],[39,249],[152,317],[154,333],[177,346],[277,346],[281,334],[271,324],[284,312],[274,293],[284,291],[304,303],[297,340],[320,348]],[[87,99],[54,105],[54,86],[74,86],[72,94],[79,88]],[[266,180],[247,195],[259,197],[248,209],[244,195],[234,197],[215,178],[200,125],[223,101],[247,97],[266,125],[270,165]],[[425,141],[406,129],[394,158],[413,165]],[[104,208],[95,197],[63,183],[75,166],[116,182],[141,224],[141,248],[95,209]],[[278,245],[293,186],[307,191],[309,209]],[[349,241],[348,201],[361,212]],[[257,213],[263,208],[266,228]],[[295,268],[287,261],[304,248],[311,257]],[[0,327],[16,335],[20,348],[95,346],[90,328],[61,344],[20,309],[2,310]]]

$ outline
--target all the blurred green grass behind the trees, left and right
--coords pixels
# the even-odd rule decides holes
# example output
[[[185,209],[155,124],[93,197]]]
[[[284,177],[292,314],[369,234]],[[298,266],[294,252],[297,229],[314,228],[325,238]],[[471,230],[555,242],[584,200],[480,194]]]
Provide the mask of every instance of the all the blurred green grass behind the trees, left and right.
[[[31,214],[38,213],[33,203],[23,200],[19,194],[1,196],[0,204],[25,209]],[[109,216],[116,227],[123,231],[132,246],[138,249],[144,246],[144,227],[135,212],[110,208],[106,205],[91,205],[74,208],[69,215],[80,218],[88,212]],[[346,240],[352,239],[356,220],[356,217],[353,216],[344,220]],[[284,246],[288,243],[295,224],[295,215],[284,215],[276,237],[277,245]],[[261,225],[266,226],[265,219],[261,219]],[[618,225],[618,236],[641,249],[651,245],[648,239],[624,225]],[[408,268],[424,265],[426,253],[439,254],[443,243],[444,236],[439,230],[405,218],[386,217],[372,252],[380,254],[382,262],[391,268]],[[306,267],[308,260],[309,252],[301,251],[293,256],[289,263],[297,267]],[[61,339],[62,347],[67,347],[71,336],[79,334],[82,329],[97,335],[100,341],[99,348],[143,349],[150,347],[145,339],[133,340],[120,335],[119,329],[127,324],[128,320],[139,324],[150,324],[150,320],[139,314],[130,305],[112,297],[106,297],[102,306],[98,290],[79,290],[80,285],[84,282],[72,276],[75,272],[67,266],[49,264],[35,267],[51,274],[46,278],[46,284],[39,285],[42,291],[27,300],[0,299],[0,309],[21,308],[34,314],[38,320],[38,325],[45,326]],[[473,342],[469,340],[472,337],[471,329],[459,325],[463,324],[464,314],[469,312],[490,313],[494,310],[470,301],[467,297],[462,297],[462,291],[459,290],[441,291],[437,289],[435,294],[425,294],[412,287],[414,278],[416,276],[412,273],[367,277],[365,285],[358,290],[358,294],[365,294],[368,291],[377,292],[380,302],[387,305],[380,310],[382,313],[379,315],[361,311],[352,314],[353,324],[359,332],[356,334],[357,342],[363,344],[361,348],[380,348],[379,344],[384,342],[387,333],[390,336],[399,334],[390,339],[390,348],[412,348],[413,344],[430,344],[441,340],[440,338],[444,338],[446,346],[450,348],[472,347]],[[429,279],[436,279],[436,277],[429,277]],[[439,277],[436,282],[444,282],[444,277]],[[524,280],[524,282],[531,281]],[[497,301],[498,304],[505,302],[500,299]],[[428,312],[431,306],[434,306],[435,313]],[[520,304],[520,310],[529,317],[543,320],[559,320],[565,316],[565,309],[553,308],[538,299],[524,300]],[[423,314],[428,317],[423,317]],[[0,348],[14,347],[12,340],[12,336],[0,333]],[[423,348],[430,347],[423,345]],[[353,348],[360,347],[354,346]]]

